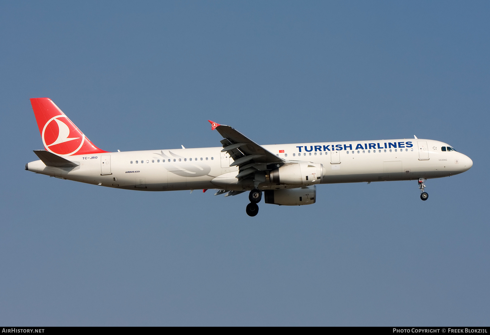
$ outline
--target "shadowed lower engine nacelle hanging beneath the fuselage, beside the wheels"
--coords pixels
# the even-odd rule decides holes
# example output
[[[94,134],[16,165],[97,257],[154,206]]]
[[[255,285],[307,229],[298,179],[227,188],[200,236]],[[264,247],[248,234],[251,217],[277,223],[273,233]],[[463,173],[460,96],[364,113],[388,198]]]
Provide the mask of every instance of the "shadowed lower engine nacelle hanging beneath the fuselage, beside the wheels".
[[[264,201],[266,204],[284,206],[311,205],[317,201],[317,185],[298,189],[266,190]]]

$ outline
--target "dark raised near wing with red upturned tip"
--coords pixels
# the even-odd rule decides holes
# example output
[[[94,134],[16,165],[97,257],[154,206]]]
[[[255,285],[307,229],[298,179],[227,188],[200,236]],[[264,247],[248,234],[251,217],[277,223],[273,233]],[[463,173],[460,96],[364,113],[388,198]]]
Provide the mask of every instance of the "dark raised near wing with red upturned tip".
[[[211,120],[212,129],[218,130],[223,137],[221,152],[227,152],[233,159],[230,166],[238,166],[237,178],[247,178],[258,170],[267,170],[267,165],[284,163],[285,160],[276,156],[263,146],[256,144],[239,131],[230,126],[218,124]]]

